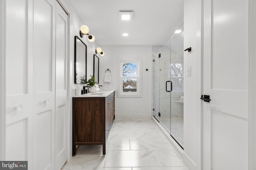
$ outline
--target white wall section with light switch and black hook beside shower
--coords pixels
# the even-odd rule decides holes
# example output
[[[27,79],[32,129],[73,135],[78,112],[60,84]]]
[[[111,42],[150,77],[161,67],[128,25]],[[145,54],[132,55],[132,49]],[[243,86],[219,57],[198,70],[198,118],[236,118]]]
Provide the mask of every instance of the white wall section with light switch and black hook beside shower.
[[[201,8],[202,0],[184,0],[184,155],[189,170],[201,169]]]

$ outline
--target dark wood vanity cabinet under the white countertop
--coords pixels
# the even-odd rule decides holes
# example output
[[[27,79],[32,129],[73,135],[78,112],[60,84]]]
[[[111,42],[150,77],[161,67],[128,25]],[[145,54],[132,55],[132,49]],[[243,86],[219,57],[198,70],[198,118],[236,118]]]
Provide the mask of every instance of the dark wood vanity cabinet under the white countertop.
[[[76,145],[102,145],[106,154],[106,139],[115,116],[114,93],[107,97],[73,98],[73,156]]]

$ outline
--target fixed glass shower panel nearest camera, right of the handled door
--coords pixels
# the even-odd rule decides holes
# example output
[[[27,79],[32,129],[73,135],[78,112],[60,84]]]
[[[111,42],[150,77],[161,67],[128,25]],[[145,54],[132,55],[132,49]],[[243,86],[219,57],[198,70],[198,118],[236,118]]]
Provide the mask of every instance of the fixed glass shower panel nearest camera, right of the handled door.
[[[183,61],[184,61],[184,35],[183,25],[171,36],[171,64],[170,77],[172,81],[171,96],[171,136],[183,146]]]

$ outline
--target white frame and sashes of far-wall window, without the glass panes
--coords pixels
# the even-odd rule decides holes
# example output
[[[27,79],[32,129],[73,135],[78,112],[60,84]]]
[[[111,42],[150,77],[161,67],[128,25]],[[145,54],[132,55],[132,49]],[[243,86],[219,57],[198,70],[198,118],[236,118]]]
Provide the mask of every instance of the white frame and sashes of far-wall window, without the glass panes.
[[[137,77],[123,77],[122,63],[137,63]],[[136,92],[123,92],[123,78],[137,78]],[[117,71],[117,97],[118,98],[141,98],[142,97],[142,58],[118,59]]]

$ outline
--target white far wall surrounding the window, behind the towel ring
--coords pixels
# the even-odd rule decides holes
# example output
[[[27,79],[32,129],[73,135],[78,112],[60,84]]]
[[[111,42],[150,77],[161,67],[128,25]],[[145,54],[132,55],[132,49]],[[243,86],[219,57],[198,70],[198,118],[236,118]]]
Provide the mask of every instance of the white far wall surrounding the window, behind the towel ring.
[[[118,58],[142,57],[142,98],[117,98],[116,95],[116,118],[151,117],[151,46],[102,46],[105,55],[100,58],[99,84],[102,89],[117,90],[117,64]],[[148,68],[148,71],[146,71]],[[111,82],[103,82],[105,70],[111,70]]]

